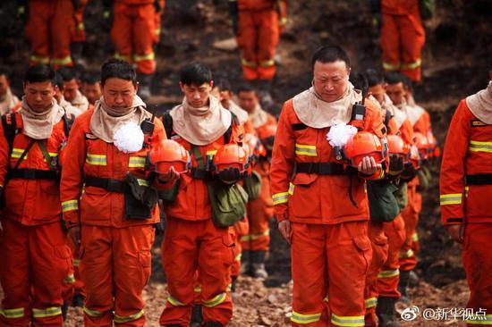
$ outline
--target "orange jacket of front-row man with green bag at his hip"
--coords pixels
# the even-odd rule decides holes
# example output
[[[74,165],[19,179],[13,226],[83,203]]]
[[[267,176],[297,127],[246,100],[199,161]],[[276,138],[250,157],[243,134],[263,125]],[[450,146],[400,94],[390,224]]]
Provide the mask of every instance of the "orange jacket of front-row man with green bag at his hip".
[[[169,117],[170,118],[170,117]],[[166,122],[166,119],[165,119]],[[170,130],[168,126],[166,130]],[[233,119],[229,143],[242,142],[243,130],[236,119]],[[227,133],[227,132],[226,132]],[[176,132],[169,135],[169,138],[174,139],[182,145],[191,155],[191,167],[197,168],[198,162],[195,155],[191,151],[191,143],[180,137]],[[200,146],[199,152],[204,164],[211,163],[216,151],[225,144],[225,136],[222,136],[216,141],[207,146]],[[174,202],[164,206],[166,216],[179,218],[187,221],[204,221],[212,218],[212,206],[208,199],[207,184],[204,180],[199,180],[191,177],[191,172],[181,175],[178,194]]]

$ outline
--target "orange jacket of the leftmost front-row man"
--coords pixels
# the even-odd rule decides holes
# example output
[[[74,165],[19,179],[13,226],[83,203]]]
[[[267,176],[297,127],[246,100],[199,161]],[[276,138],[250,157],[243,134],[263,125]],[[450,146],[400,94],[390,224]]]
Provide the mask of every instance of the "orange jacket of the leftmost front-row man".
[[[15,125],[18,131],[21,131],[23,126],[21,113],[7,113],[4,117],[13,122],[13,115]],[[65,123],[62,119],[54,126],[51,137],[43,140],[42,143],[46,146],[49,156],[55,158],[61,157],[66,139]],[[13,148],[10,149],[4,136],[4,127],[0,124],[0,185],[5,185],[7,170],[17,164],[31,140],[32,138],[18,132],[13,138]],[[10,152],[12,155],[9,157]],[[47,160],[36,143],[25,155],[18,169],[50,171]],[[4,189],[4,200],[5,207],[2,212],[4,219],[12,219],[30,226],[56,222],[61,219],[58,180],[12,178],[8,180]]]

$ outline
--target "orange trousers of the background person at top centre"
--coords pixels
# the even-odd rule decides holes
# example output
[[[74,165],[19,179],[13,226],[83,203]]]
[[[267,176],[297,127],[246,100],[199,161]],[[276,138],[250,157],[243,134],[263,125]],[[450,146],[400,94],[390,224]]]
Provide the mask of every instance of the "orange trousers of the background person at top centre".
[[[276,10],[239,12],[238,46],[242,49],[244,80],[272,80],[279,40]]]

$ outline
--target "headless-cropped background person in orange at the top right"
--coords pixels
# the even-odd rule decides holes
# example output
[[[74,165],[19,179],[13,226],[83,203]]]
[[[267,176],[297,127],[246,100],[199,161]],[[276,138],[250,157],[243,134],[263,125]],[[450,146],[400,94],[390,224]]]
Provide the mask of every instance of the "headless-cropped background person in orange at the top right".
[[[421,80],[421,51],[425,29],[419,0],[381,0],[381,48],[385,71],[401,71],[413,82]]]

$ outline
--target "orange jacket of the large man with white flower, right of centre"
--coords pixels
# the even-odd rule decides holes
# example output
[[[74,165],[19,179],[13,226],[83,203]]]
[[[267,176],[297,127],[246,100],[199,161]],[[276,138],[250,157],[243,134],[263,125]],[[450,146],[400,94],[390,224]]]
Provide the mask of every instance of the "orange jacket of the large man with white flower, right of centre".
[[[386,128],[381,113],[370,100],[363,130],[383,138]],[[270,180],[278,221],[288,219],[303,223],[339,223],[369,220],[365,180],[349,175],[295,173],[296,163],[340,163],[327,141],[329,128],[313,129],[299,120],[293,100],[284,104],[276,131]],[[380,179],[376,172],[369,179]],[[352,184],[352,185],[351,185]],[[352,204],[352,200],[357,205]]]

